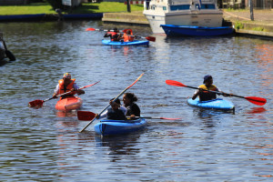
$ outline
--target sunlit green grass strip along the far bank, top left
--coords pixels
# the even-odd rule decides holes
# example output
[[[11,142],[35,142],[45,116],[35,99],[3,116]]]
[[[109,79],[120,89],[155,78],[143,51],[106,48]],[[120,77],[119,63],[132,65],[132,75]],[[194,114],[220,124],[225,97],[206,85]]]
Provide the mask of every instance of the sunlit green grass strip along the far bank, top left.
[[[92,14],[107,12],[126,12],[124,3],[102,2],[83,4],[75,9],[67,9],[64,13]],[[143,11],[143,5],[131,5],[131,12]],[[47,3],[35,3],[30,5],[1,5],[0,15],[33,15],[33,14],[56,14],[51,5]]]

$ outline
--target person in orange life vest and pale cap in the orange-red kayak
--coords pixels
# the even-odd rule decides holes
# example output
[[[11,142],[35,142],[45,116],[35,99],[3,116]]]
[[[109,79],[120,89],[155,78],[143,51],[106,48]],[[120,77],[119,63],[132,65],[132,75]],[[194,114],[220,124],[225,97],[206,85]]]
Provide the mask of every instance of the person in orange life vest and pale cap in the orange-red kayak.
[[[76,79],[71,79],[71,74],[64,74],[63,78],[58,81],[56,88],[54,90],[53,97],[56,98],[57,95],[64,94],[66,92],[72,91],[71,93],[61,96],[61,99],[66,98],[67,96],[74,96],[75,94],[81,95],[85,94],[84,90],[78,90],[79,86],[75,83]]]

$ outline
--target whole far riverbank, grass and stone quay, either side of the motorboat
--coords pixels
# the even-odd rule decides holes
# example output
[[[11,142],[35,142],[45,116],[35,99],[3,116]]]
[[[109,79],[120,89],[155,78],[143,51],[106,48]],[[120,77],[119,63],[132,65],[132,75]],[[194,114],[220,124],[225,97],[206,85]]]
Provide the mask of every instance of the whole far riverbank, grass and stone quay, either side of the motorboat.
[[[34,5],[29,5],[29,8],[20,5],[1,6],[0,22],[102,19],[104,23],[149,26],[147,18],[142,13],[143,5],[131,5],[132,12],[126,13],[126,5],[123,3],[89,3],[83,4],[70,13],[63,12],[62,15],[58,15],[47,4],[35,4],[35,9],[33,7]],[[27,12],[25,8],[30,12]],[[18,15],[20,12],[22,15]],[[254,10],[254,21],[251,21],[249,10],[227,11],[227,9],[223,9],[223,18],[224,25],[235,27],[236,35],[273,37],[272,10]]]

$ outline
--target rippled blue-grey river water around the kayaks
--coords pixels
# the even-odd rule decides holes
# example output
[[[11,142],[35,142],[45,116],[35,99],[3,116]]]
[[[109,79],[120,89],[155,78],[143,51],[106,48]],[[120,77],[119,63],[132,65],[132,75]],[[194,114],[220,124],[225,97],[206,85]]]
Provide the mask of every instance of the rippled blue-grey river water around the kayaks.
[[[247,37],[167,38],[149,47],[101,44],[113,28],[100,21],[0,24],[17,60],[0,67],[1,181],[272,181],[273,41]],[[131,26],[135,35],[148,27]],[[123,29],[127,26],[118,26]],[[99,113],[108,100],[144,76],[128,92],[138,96],[145,130],[101,138],[76,112],[59,113],[56,100],[39,109],[28,102],[52,96],[66,72],[86,88],[81,110]],[[221,90],[268,99],[265,106],[227,97],[235,113],[187,106],[194,89],[167,86],[177,80],[199,86],[210,74]],[[221,96],[219,96],[221,97]],[[96,122],[95,122],[96,123]]]

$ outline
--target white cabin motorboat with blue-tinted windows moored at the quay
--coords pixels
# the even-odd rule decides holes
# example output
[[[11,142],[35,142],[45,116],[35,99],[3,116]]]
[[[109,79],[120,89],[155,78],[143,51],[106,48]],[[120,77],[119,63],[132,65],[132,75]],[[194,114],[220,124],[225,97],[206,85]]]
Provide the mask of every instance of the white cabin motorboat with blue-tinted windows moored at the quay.
[[[154,34],[164,34],[160,25],[218,27],[223,21],[217,0],[151,0],[143,14]]]

